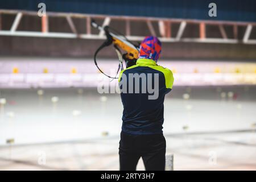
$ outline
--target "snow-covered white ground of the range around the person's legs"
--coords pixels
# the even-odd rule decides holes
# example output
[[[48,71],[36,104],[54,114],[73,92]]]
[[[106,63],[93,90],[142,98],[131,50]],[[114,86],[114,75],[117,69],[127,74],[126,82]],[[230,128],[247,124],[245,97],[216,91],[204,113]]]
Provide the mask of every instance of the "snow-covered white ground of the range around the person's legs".
[[[118,169],[118,94],[1,89],[0,98],[0,169]],[[256,86],[176,87],[164,106],[174,169],[256,169]]]

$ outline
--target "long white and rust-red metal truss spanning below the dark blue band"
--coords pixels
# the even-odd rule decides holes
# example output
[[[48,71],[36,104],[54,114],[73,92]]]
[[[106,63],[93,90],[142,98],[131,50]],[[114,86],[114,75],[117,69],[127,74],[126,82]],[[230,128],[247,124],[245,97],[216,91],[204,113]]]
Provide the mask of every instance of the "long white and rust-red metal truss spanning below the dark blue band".
[[[39,31],[16,31],[16,28],[19,25],[20,19],[22,15],[35,15],[37,16],[36,12],[34,11],[19,11],[19,10],[0,10],[0,14],[16,14],[16,18],[14,20],[13,26],[11,30],[0,30],[0,36],[28,36],[28,37],[46,37],[46,38],[77,38],[77,30],[75,24],[72,21],[72,18],[84,18],[86,20],[86,33],[79,35],[81,39],[105,39],[104,31],[100,31],[99,34],[92,34],[90,30],[90,19],[93,18],[102,18],[104,19],[103,26],[106,26],[110,23],[112,19],[124,20],[126,23],[126,36],[130,40],[143,40],[144,36],[134,36],[130,35],[130,22],[131,20],[145,20],[150,29],[152,35],[155,35],[154,27],[152,26],[152,21],[158,21],[158,26],[160,28],[160,33],[162,38],[159,38],[162,42],[195,42],[195,43],[240,43],[239,40],[236,39],[228,39],[226,32],[224,30],[223,25],[225,24],[233,24],[234,27],[241,25],[239,22],[224,22],[224,21],[209,21],[209,20],[189,20],[189,19],[168,19],[168,18],[150,18],[150,17],[134,17],[134,16],[106,16],[106,15],[89,15],[89,14],[73,14],[73,13],[47,13],[47,18],[50,16],[58,16],[58,17],[65,17],[68,20],[68,24],[71,27],[72,33],[65,33],[65,32],[39,32]],[[48,22],[48,21],[47,21]],[[46,26],[47,22],[45,21],[42,25]],[[177,31],[176,38],[171,38],[171,36],[167,36],[167,33],[171,32],[169,30],[166,31],[166,26],[170,29],[171,22],[179,22],[180,27]],[[188,23],[199,23],[200,24],[200,38],[182,38],[184,29]],[[216,24],[221,31],[222,39],[221,38],[206,38],[205,36],[205,25],[206,24]],[[254,23],[245,23],[243,22],[243,26],[247,26],[245,36],[243,37],[243,43],[245,44],[256,44],[256,40],[249,39],[251,29],[253,28]],[[43,28],[45,29],[45,28]],[[47,26],[48,30],[48,26]],[[235,32],[237,34],[237,32]]]

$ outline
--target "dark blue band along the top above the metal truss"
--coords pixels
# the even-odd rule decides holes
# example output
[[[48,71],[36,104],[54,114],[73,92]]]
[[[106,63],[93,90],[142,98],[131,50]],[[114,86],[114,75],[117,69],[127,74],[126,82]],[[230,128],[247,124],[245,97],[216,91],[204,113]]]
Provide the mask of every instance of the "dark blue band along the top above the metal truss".
[[[37,11],[40,2],[54,12],[256,22],[255,0],[8,0],[0,9]],[[217,17],[208,15],[211,2]]]

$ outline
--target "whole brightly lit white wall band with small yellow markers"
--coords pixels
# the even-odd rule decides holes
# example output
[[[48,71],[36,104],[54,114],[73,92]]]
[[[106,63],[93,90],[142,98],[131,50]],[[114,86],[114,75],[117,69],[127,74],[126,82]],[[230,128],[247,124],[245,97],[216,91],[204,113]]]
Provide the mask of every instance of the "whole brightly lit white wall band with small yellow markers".
[[[160,60],[174,73],[175,85],[255,85],[256,63]],[[98,65],[115,76],[118,61],[102,59]],[[108,77],[91,59],[0,57],[0,88],[97,87]],[[103,80],[102,80],[103,79]],[[110,86],[117,85],[117,80]]]

